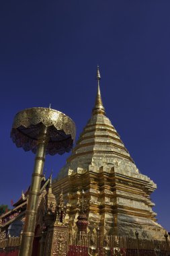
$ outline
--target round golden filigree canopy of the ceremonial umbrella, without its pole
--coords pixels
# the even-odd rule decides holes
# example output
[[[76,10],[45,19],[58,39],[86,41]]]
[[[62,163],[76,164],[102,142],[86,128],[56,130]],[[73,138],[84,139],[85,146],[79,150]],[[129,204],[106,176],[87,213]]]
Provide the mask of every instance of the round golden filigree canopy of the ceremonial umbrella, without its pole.
[[[18,148],[36,153],[42,126],[48,128],[46,154],[64,154],[73,147],[75,123],[64,113],[51,108],[27,108],[15,115],[11,138]]]

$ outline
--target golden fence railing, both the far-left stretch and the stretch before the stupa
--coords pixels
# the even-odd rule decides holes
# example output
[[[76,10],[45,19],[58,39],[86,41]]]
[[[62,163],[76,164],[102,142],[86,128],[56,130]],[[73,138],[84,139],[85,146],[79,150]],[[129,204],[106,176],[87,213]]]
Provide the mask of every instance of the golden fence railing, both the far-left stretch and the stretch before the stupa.
[[[8,236],[1,240],[0,256],[17,256],[20,243],[21,236]],[[114,235],[103,236],[103,234],[97,232],[88,233],[87,236],[83,233],[77,235],[70,234],[69,252],[67,256],[88,255],[167,256],[170,255],[170,243],[168,238],[160,241],[147,240],[138,237],[128,238]]]

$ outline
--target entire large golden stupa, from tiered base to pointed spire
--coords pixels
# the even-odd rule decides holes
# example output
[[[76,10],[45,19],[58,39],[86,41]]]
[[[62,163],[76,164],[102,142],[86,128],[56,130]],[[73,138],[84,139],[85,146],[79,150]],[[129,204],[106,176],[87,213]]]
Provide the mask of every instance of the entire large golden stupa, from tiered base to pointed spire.
[[[72,232],[77,230],[81,191],[89,230],[100,228],[103,234],[162,239],[165,229],[157,223],[150,195],[157,185],[139,172],[120,135],[105,115],[99,88],[91,119],[67,164],[52,184],[56,198],[62,189],[67,202],[66,220]]]

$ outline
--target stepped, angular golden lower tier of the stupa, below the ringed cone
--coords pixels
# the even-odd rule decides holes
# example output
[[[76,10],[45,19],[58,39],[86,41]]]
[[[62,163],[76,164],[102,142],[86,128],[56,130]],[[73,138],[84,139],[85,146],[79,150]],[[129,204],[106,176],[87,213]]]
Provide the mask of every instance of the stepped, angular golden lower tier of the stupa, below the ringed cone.
[[[99,226],[104,234],[135,237],[137,231],[140,238],[164,237],[165,229],[157,224],[150,199],[156,185],[142,174],[120,167],[89,166],[89,170],[72,170],[68,177],[53,183],[57,197],[61,188],[67,201],[66,219],[73,232],[77,230],[83,189],[90,230]]]

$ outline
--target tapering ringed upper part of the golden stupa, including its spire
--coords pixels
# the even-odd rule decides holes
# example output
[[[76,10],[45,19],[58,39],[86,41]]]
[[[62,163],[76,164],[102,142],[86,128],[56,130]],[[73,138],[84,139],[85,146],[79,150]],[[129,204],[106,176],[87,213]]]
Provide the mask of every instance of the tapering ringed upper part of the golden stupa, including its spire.
[[[120,135],[105,115],[99,86],[100,79],[99,67],[97,67],[97,96],[91,119],[79,136],[71,156],[67,159],[67,165],[60,170],[58,179],[66,177],[69,170],[88,169],[89,165],[100,167],[109,164],[112,167],[115,162],[122,160],[138,172]]]

